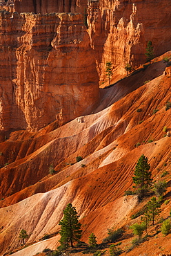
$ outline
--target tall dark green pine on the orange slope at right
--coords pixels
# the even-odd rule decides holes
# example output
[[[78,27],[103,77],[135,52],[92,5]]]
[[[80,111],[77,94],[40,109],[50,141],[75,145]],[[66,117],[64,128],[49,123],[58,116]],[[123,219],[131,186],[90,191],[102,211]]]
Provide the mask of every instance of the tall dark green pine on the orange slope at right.
[[[148,158],[142,155],[135,167],[134,177],[132,177],[133,182],[136,185],[133,188],[137,188],[140,199],[143,199],[145,193],[148,192],[148,189],[152,184],[151,176],[152,173],[150,172],[150,164],[148,164]]]

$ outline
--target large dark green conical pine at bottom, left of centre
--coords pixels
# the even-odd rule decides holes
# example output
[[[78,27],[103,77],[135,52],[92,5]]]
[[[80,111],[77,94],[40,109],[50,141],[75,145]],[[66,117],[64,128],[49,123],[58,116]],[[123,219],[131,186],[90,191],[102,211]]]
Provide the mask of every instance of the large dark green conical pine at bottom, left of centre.
[[[81,238],[81,223],[79,223],[78,219],[76,208],[71,203],[68,203],[66,209],[63,210],[63,219],[59,221],[59,225],[61,225],[61,230],[59,231],[61,246],[59,246],[59,249],[66,249],[69,244],[73,247],[73,242],[79,241]]]

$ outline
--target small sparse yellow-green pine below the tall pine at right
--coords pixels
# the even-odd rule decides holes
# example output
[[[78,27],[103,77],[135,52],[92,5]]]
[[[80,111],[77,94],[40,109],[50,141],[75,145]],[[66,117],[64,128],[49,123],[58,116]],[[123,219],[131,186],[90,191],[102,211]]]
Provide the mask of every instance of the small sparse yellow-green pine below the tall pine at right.
[[[156,197],[152,197],[150,201],[147,203],[148,216],[150,221],[152,221],[152,225],[154,225],[154,221],[159,217],[161,212],[161,205],[157,202]]]

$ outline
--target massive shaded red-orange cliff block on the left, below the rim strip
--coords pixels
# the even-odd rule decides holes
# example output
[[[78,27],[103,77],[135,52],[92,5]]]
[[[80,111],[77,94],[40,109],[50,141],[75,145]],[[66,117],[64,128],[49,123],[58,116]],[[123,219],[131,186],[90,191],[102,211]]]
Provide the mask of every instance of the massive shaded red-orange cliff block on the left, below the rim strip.
[[[0,129],[36,130],[90,113],[99,78],[82,15],[0,15]]]

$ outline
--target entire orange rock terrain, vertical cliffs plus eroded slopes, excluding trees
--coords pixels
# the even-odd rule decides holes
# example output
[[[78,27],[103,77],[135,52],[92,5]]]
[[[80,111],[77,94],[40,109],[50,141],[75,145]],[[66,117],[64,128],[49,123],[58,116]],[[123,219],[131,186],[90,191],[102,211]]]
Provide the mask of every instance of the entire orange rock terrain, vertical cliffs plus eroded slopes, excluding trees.
[[[94,232],[101,243],[108,228],[123,227],[123,256],[170,253],[170,235],[155,228],[145,243],[126,251],[128,227],[140,221],[130,215],[142,205],[135,195],[123,196],[145,154],[153,181],[168,182],[161,217],[169,216],[170,1],[11,4],[15,12],[10,2],[0,12],[0,254],[56,249],[67,203],[80,215],[83,241]],[[112,62],[114,82],[125,75],[126,63],[135,68],[145,62],[148,40],[156,56],[168,52],[99,89],[105,62]],[[83,160],[77,163],[77,156]],[[22,228],[29,235],[26,248],[19,240]]]

